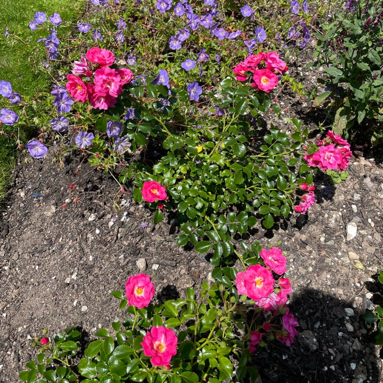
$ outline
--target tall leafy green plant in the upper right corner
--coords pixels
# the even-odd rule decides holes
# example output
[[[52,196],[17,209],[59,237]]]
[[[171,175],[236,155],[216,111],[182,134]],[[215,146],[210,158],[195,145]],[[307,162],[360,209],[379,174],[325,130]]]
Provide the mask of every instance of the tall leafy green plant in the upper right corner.
[[[370,132],[377,144],[383,122],[383,6],[349,0],[335,17],[323,33],[315,33],[316,61],[309,66],[325,65],[326,88],[314,105],[325,103],[332,111],[334,133]]]

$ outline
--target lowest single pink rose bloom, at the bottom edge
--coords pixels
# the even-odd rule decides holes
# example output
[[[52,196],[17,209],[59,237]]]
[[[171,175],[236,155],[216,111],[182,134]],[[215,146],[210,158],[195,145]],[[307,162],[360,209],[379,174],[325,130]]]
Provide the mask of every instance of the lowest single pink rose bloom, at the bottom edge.
[[[177,337],[169,328],[152,327],[141,343],[143,353],[152,356],[153,366],[165,366],[170,369],[170,360],[177,353]]]

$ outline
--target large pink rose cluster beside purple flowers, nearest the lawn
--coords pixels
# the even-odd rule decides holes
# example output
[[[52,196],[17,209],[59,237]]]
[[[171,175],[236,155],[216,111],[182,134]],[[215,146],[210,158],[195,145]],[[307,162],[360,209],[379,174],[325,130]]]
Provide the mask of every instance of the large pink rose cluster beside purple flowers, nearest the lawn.
[[[93,108],[106,110],[114,106],[123,86],[132,80],[133,73],[126,68],[110,68],[114,55],[106,49],[95,46],[85,56],[88,61],[83,56],[81,61],[75,61],[73,75],[66,77],[66,89],[76,101],[89,100]]]

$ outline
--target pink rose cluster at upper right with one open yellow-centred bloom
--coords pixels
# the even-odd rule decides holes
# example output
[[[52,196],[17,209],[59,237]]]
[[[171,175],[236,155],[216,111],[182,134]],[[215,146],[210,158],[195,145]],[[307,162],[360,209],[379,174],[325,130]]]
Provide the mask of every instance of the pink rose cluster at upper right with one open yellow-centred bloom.
[[[249,77],[247,74],[253,74],[253,83],[251,86],[257,90],[263,90],[269,93],[278,85],[278,76],[275,74],[283,74],[288,70],[288,66],[279,58],[276,52],[263,53],[248,56],[245,61],[237,64],[233,69],[238,81],[246,81]]]

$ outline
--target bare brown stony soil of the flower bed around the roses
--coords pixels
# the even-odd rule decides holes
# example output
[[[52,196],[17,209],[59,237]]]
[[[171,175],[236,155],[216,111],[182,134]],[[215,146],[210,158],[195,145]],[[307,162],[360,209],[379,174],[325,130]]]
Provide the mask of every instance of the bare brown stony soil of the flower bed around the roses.
[[[312,70],[302,74],[296,67],[311,86]],[[296,98],[280,98],[288,107],[284,116],[298,115],[315,127],[318,116],[301,113],[308,99],[294,110]],[[92,170],[80,152],[66,161],[60,169],[49,160],[20,159],[0,217],[0,383],[19,381],[42,328],[53,337],[77,326],[92,338],[123,320],[110,293],[123,291],[130,275],[150,275],[158,301],[211,282],[205,256],[177,247],[172,217],[152,224],[153,213],[132,200],[131,188],[117,198],[115,181]],[[362,318],[378,303],[367,287],[383,269],[381,157],[353,157],[349,174],[336,185],[318,177],[318,203],[307,216],[294,214],[273,230],[258,227],[248,239],[265,248],[278,244],[286,253],[290,307],[300,323],[292,346],[271,342],[254,355],[264,383],[383,381],[383,355]],[[347,240],[350,223],[357,232]]]

